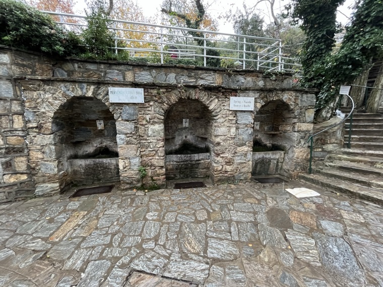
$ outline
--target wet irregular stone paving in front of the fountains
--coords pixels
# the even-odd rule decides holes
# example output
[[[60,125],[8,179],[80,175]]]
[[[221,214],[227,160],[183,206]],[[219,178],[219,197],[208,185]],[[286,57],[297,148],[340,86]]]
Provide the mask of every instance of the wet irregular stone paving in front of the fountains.
[[[0,286],[383,286],[383,208],[303,185],[0,205]]]

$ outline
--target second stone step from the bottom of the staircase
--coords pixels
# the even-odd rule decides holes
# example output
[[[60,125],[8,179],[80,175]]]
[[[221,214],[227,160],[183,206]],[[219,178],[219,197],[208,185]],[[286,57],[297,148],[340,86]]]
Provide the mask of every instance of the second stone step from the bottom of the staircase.
[[[315,167],[312,171],[314,174],[321,174],[327,178],[335,178],[343,180],[344,182],[357,183],[361,186],[381,189],[383,192],[383,181],[380,181],[380,177],[359,174],[357,172],[345,172],[343,170],[338,170],[337,166],[333,166],[332,168]]]

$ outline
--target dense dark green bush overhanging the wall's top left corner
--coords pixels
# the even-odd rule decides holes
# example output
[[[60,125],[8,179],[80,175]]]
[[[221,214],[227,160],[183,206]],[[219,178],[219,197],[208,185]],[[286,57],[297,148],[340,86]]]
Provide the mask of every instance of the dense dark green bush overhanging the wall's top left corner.
[[[82,50],[80,39],[46,14],[15,0],[0,0],[0,44],[53,55]]]

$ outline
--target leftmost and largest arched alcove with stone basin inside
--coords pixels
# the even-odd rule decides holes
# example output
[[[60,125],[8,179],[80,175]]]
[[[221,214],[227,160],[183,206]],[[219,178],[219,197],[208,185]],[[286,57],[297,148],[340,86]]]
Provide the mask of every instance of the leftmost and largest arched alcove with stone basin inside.
[[[52,118],[57,136],[57,171],[65,186],[119,180],[116,124],[109,108],[94,97],[73,97]]]

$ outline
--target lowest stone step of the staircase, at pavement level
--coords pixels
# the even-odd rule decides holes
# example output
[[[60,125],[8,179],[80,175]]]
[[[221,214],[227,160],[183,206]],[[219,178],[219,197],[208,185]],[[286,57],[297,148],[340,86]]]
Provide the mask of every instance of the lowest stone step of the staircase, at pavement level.
[[[366,188],[356,183],[327,178],[320,174],[299,174],[299,180],[332,192],[341,192],[353,198],[368,200],[383,206],[383,191],[379,189]]]

